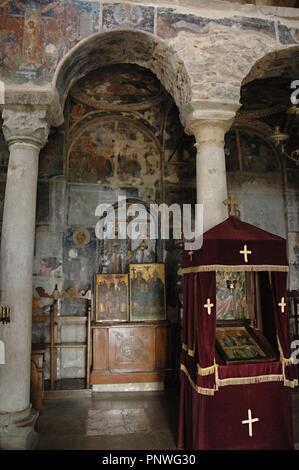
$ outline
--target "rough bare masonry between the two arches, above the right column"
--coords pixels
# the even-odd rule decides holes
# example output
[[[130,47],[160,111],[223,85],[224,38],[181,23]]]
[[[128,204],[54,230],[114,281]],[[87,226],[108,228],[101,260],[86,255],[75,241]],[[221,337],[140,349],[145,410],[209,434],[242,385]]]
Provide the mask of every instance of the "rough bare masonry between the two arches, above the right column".
[[[171,45],[186,57],[193,104],[237,104],[242,80],[253,64],[277,49],[275,38],[266,33],[221,25],[197,34],[185,31]]]

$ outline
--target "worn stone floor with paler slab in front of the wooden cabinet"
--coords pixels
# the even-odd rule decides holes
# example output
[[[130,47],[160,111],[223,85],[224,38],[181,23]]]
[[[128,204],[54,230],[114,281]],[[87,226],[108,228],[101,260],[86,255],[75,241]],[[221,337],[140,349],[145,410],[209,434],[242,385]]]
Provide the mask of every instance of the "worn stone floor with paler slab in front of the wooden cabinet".
[[[37,422],[38,449],[176,449],[175,392],[62,393],[45,400]],[[54,395],[55,396],[55,395]],[[294,394],[294,430],[299,449],[299,393]]]

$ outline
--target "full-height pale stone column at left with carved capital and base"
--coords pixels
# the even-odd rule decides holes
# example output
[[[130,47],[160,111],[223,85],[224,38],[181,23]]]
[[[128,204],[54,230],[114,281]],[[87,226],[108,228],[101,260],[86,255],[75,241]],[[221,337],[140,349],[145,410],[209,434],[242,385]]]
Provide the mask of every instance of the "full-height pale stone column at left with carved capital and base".
[[[30,408],[32,271],[40,149],[48,137],[45,110],[5,109],[9,146],[1,240],[1,303],[11,322],[0,326],[5,364],[0,366],[0,449],[33,444],[37,414]]]

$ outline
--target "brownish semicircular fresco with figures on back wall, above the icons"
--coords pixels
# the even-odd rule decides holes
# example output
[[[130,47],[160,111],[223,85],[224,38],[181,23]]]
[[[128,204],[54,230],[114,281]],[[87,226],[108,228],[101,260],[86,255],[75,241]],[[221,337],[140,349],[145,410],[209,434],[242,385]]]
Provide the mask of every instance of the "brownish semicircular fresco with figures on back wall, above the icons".
[[[160,179],[160,155],[154,141],[129,121],[95,121],[71,147],[68,178],[112,188],[135,186],[151,199]]]

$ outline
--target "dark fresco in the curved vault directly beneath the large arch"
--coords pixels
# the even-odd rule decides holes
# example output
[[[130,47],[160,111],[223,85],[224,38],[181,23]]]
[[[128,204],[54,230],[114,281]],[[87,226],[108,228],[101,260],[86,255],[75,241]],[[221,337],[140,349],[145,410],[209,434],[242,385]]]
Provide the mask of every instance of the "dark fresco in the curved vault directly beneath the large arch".
[[[149,107],[161,101],[164,93],[149,70],[117,64],[89,73],[74,86],[72,96],[94,108],[121,110]]]

